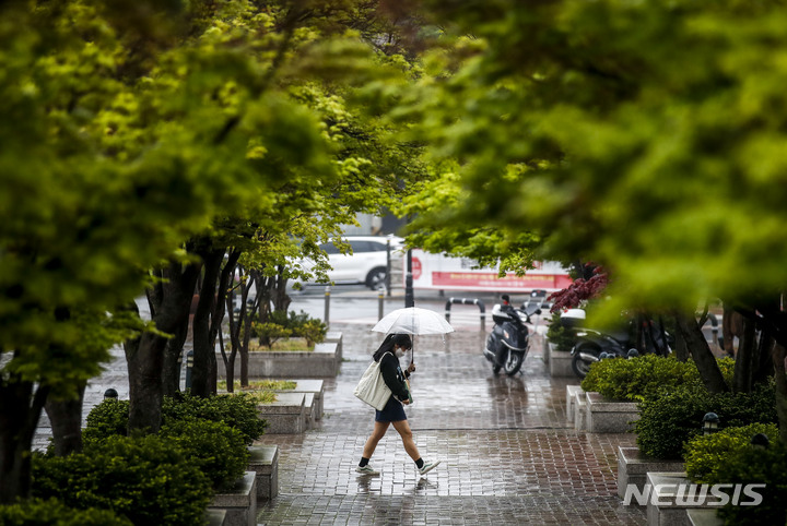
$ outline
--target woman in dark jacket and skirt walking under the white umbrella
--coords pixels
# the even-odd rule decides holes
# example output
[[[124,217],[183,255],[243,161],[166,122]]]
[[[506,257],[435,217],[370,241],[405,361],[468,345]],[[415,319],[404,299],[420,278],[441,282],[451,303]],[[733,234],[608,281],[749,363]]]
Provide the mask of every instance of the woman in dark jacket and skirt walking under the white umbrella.
[[[424,462],[415,446],[410,423],[408,423],[407,415],[402,404],[408,405],[411,402],[410,390],[407,379],[410,373],[415,371],[415,363],[410,363],[407,371],[402,372],[399,364],[399,358],[412,348],[412,340],[407,334],[389,334],[383,340],[377,351],[373,355],[375,361],[380,363],[380,373],[386,385],[391,390],[391,397],[381,411],[375,409],[375,426],[372,435],[366,441],[363,450],[361,463],[355,470],[363,475],[379,475],[379,471],[369,466],[368,462],[374,454],[377,443],[383,439],[388,426],[393,425],[404,444],[404,451],[410,458],[415,462],[415,468],[420,475],[426,475],[428,471],[437,467],[441,461]]]

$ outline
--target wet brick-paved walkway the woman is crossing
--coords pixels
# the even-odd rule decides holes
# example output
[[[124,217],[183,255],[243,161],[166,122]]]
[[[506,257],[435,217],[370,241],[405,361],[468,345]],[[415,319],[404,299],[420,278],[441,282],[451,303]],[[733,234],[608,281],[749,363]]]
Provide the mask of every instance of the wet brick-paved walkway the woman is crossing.
[[[421,478],[390,428],[372,458],[381,475],[355,474],[374,420],[352,394],[381,340],[369,327],[331,326],[344,335],[344,362],[325,383],[318,428],[261,438],[280,447],[280,494],[259,511],[259,524],[646,523],[643,509],[616,495],[614,452],[634,437],[577,433],[566,425],[565,386],[578,382],[549,375],[540,339],[524,374],[495,378],[478,326],[445,342],[415,340],[408,418],[423,457],[443,464]]]

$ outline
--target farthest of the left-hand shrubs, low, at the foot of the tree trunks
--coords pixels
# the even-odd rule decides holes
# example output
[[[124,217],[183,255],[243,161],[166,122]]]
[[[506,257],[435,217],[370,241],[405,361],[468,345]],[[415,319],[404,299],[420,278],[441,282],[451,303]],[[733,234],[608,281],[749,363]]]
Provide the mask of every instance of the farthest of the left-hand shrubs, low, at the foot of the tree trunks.
[[[268,422],[260,420],[257,403],[245,394],[235,396],[220,395],[202,398],[189,393],[180,393],[174,397],[165,397],[162,406],[163,423],[184,418],[204,418],[215,422],[224,422],[237,429],[244,437],[246,445],[259,439]]]

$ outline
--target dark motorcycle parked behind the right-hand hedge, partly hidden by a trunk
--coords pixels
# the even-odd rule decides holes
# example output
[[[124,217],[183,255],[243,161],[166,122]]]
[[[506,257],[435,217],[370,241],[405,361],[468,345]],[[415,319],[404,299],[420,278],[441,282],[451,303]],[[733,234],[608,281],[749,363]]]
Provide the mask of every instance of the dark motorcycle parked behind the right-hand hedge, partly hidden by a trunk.
[[[629,321],[622,331],[601,332],[594,328],[577,328],[576,344],[572,349],[572,369],[583,379],[590,366],[602,358],[630,358],[638,356],[636,320]],[[643,326],[645,350],[668,354],[671,351],[671,336],[649,321]],[[665,339],[666,338],[666,339]]]

